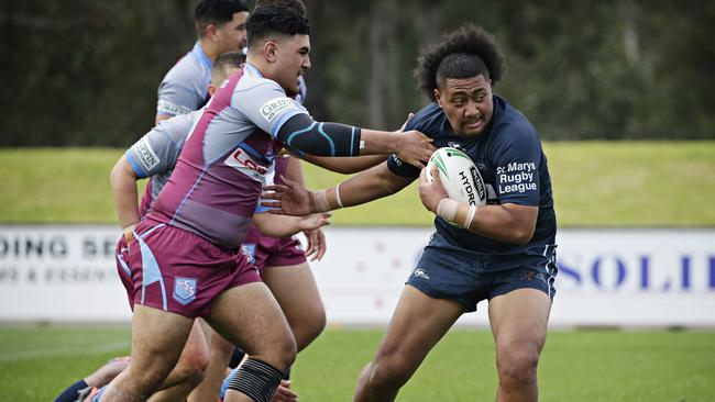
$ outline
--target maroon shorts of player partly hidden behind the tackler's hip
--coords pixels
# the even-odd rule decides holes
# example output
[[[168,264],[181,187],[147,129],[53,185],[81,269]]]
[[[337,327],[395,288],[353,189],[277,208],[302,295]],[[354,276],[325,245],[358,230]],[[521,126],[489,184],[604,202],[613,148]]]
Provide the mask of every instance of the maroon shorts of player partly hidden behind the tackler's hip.
[[[243,250],[253,258],[261,272],[266,267],[286,267],[306,261],[306,253],[297,238],[264,236],[255,226],[251,226]]]

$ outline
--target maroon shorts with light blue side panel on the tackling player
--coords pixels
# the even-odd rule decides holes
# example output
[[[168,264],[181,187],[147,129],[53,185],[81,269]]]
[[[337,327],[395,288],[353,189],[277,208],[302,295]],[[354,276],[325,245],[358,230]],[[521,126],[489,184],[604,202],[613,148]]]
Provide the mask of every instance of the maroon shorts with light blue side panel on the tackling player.
[[[221,292],[261,281],[258,270],[240,249],[219,247],[147,219],[134,233],[129,249],[134,303],[189,319],[208,316]]]

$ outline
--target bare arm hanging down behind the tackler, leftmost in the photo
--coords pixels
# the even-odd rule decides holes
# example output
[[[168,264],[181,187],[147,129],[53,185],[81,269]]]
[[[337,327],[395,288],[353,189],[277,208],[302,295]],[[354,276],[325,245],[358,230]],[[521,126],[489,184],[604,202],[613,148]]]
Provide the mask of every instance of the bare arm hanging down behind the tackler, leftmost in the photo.
[[[128,243],[131,241],[132,231],[140,220],[136,179],[127,156],[122,155],[109,175],[109,182],[117,205],[119,224],[122,226]]]

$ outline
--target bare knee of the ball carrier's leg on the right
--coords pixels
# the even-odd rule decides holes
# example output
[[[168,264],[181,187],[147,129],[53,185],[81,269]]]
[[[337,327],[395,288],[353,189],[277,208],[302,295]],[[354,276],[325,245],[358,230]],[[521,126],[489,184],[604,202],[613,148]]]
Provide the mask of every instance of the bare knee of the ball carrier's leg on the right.
[[[541,347],[529,342],[512,342],[497,346],[496,366],[503,387],[536,381]]]

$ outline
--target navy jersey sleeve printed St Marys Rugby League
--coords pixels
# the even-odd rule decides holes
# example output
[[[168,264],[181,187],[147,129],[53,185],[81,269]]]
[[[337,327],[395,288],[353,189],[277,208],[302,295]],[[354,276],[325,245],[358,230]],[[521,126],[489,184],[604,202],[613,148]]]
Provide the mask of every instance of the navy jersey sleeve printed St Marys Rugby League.
[[[507,126],[493,149],[494,185],[499,203],[538,206],[541,143],[534,127]]]

